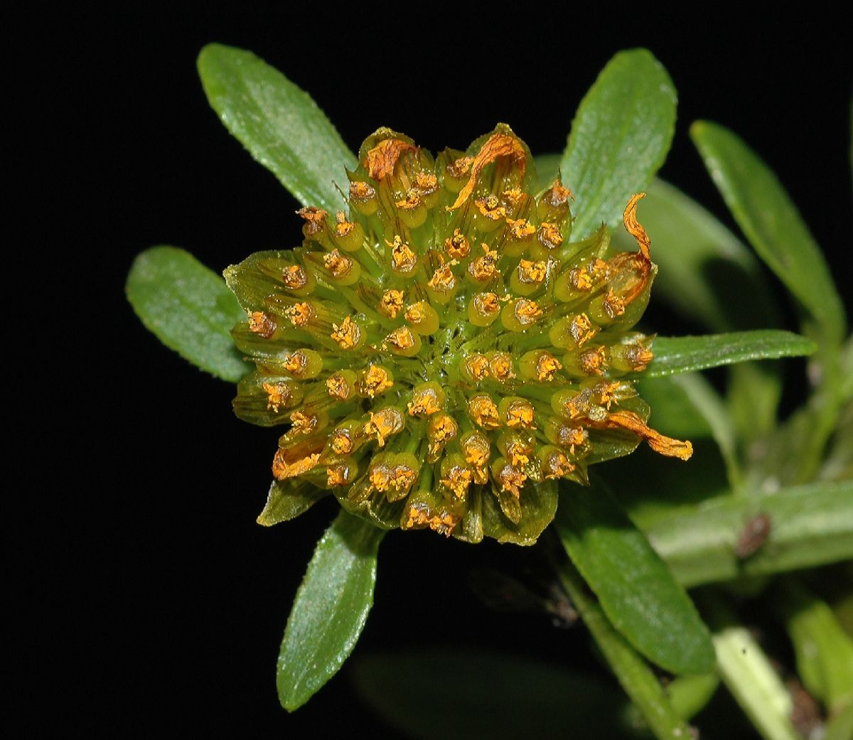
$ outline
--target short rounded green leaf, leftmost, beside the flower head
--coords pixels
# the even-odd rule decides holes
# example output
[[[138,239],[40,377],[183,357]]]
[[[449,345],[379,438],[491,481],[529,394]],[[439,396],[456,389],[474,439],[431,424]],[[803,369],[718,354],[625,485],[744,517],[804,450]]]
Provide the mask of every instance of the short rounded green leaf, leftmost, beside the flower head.
[[[230,333],[246,314],[225,281],[189,252],[174,246],[143,251],[125,292],[145,327],[196,367],[232,383],[252,369]]]

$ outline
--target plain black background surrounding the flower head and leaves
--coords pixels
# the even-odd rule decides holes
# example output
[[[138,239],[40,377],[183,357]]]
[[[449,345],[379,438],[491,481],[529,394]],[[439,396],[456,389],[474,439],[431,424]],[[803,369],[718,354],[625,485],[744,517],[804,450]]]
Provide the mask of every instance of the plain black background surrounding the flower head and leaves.
[[[577,102],[614,52],[647,46],[680,98],[662,176],[734,228],[687,136],[695,119],[728,125],[779,174],[850,298],[851,64],[837,19],[583,17],[567,3],[486,6],[467,18],[424,8],[413,18],[362,3],[359,13],[66,20],[34,25],[14,67],[36,72],[15,109],[35,136],[15,154],[50,209],[26,223],[26,275],[45,270],[26,254],[47,254],[49,278],[59,278],[44,286],[47,310],[67,353],[59,366],[31,361],[41,379],[28,388],[46,409],[28,477],[39,483],[21,492],[38,515],[31,507],[18,530],[49,564],[15,569],[43,630],[44,655],[33,651],[20,685],[41,707],[35,726],[331,737],[368,723],[392,737],[346,670],[298,713],[279,708],[287,611],[336,506],[259,528],[275,434],[235,419],[229,385],[160,346],[123,296],[133,257],[150,245],[183,246],[219,271],[299,239],[295,201],[207,106],[194,66],[205,43],[252,49],[281,69],[353,149],[380,125],[432,151],[464,148],[505,121],[534,153],[565,146]],[[696,328],[654,316],[664,331]],[[392,534],[354,659],[442,644],[589,663],[582,629],[496,615],[471,595],[468,569],[524,557],[512,546]]]

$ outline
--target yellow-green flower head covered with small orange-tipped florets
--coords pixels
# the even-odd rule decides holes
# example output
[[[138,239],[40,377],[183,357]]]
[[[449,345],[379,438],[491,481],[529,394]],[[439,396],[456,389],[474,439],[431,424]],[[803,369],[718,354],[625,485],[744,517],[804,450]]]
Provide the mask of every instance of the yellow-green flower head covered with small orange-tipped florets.
[[[506,125],[438,159],[380,129],[347,174],[348,212],[303,208],[301,247],[225,271],[257,367],[235,412],[287,427],[276,506],[331,492],[380,527],[531,544],[560,478],[641,439],[689,457],[624,379],[653,358],[641,195],[639,251],[612,254],[606,228],[571,240],[572,193]]]

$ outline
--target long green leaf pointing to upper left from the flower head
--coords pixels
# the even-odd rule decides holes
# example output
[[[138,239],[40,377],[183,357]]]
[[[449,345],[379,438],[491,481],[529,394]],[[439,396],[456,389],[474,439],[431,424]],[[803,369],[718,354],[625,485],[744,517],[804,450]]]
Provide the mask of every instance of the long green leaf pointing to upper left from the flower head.
[[[343,205],[334,182],[348,184],[356,158],[310,95],[243,49],[211,43],[198,67],[225,127],[302,205]]]

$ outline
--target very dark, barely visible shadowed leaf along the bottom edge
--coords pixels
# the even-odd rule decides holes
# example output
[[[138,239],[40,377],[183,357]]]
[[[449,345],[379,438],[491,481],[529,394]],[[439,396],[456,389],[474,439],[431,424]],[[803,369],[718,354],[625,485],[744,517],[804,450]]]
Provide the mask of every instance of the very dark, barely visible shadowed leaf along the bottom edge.
[[[621,737],[618,690],[592,676],[504,653],[458,648],[359,657],[359,695],[389,725],[424,740]]]

